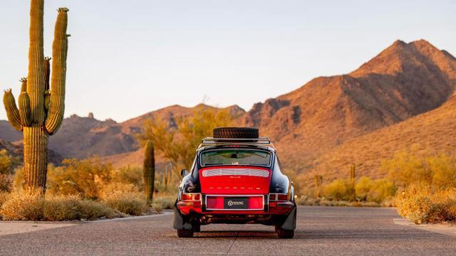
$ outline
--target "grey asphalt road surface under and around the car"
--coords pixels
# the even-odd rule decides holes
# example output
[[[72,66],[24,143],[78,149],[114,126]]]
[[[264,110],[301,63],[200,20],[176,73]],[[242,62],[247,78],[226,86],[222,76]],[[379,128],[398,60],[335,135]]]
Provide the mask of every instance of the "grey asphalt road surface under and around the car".
[[[392,208],[302,207],[295,238],[264,225],[206,225],[177,238],[172,215],[0,236],[0,255],[456,255],[456,237],[396,225]]]

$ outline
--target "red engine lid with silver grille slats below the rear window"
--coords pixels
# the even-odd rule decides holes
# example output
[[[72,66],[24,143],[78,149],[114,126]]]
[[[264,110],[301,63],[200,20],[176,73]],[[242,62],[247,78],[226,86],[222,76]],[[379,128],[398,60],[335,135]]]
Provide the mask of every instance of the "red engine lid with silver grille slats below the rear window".
[[[269,193],[271,170],[256,166],[213,166],[199,170],[201,192],[207,195]]]

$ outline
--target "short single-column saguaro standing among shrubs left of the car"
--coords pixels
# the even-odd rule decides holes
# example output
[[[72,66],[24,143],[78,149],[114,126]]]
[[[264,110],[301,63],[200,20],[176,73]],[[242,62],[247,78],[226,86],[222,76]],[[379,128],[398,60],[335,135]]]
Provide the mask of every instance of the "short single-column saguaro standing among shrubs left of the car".
[[[152,203],[154,194],[154,180],[155,180],[155,156],[154,144],[148,140],[144,148],[144,167],[142,169],[144,177],[144,193],[149,203]]]

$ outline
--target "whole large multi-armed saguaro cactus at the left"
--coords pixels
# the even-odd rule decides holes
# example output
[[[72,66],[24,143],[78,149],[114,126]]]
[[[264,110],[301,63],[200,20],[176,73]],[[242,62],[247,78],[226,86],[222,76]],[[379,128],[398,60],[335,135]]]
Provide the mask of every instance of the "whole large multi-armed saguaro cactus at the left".
[[[48,137],[61,126],[65,109],[68,9],[59,8],[51,58],[43,50],[44,0],[31,0],[28,77],[21,79],[19,109],[11,89],[4,94],[6,115],[12,127],[24,134],[24,171],[27,188],[46,188]]]

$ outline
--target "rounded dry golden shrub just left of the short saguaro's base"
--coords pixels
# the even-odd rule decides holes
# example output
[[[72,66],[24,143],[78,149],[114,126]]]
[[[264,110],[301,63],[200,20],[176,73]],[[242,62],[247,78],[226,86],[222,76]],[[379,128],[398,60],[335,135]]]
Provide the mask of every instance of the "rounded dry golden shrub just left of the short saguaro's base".
[[[147,210],[145,196],[133,184],[110,183],[103,187],[100,196],[103,203],[122,213],[141,215]]]

